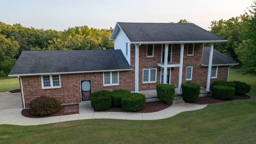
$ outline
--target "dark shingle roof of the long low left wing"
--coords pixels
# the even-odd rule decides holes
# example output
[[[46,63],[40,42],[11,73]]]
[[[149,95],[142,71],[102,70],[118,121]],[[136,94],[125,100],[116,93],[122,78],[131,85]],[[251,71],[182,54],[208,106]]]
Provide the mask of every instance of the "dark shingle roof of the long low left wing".
[[[121,50],[23,51],[9,76],[128,69]]]

